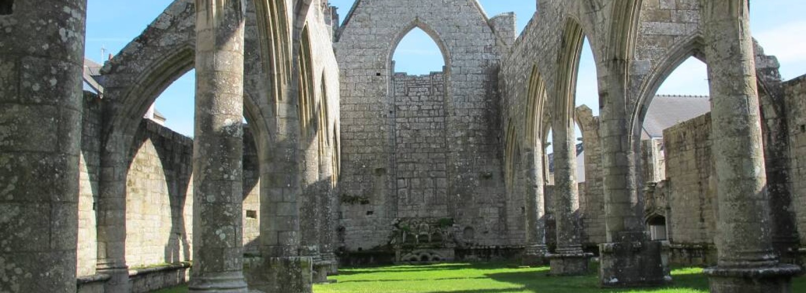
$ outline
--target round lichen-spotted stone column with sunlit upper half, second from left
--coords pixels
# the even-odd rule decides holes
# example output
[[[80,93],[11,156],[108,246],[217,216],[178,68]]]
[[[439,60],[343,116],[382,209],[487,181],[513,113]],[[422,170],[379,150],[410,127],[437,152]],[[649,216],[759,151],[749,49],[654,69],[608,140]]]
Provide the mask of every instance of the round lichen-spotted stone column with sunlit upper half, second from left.
[[[196,2],[191,292],[247,292],[243,278],[243,2]]]

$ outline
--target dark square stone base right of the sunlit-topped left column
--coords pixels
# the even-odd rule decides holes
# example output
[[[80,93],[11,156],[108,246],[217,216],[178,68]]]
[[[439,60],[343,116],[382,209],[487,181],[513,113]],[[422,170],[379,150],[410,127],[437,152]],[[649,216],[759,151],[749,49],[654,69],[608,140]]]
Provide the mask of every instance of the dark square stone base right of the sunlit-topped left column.
[[[264,293],[312,293],[314,262],[310,257],[264,258],[243,261],[249,289]]]

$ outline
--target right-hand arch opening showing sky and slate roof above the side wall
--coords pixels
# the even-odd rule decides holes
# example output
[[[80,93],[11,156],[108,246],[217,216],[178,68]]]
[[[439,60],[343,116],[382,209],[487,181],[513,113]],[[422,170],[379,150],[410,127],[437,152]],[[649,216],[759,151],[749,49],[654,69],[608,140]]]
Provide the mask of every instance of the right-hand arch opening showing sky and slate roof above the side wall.
[[[687,122],[711,110],[706,65],[689,57],[680,64],[644,105],[641,128],[641,163],[644,182],[666,179],[663,130]]]

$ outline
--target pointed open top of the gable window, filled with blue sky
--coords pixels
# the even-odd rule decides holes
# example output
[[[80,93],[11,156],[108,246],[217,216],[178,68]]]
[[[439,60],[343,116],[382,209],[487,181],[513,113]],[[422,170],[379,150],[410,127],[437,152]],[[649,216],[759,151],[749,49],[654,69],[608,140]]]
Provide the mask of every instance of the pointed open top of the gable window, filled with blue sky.
[[[414,27],[395,48],[393,72],[410,75],[427,75],[443,72],[445,57],[434,39],[426,31]]]

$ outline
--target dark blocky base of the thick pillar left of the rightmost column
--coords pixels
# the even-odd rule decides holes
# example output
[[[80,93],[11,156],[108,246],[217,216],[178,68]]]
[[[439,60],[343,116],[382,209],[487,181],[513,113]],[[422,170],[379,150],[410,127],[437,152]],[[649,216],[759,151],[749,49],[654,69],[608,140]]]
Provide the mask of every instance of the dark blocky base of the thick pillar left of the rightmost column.
[[[671,283],[667,243],[635,241],[599,245],[602,287],[652,287]]]

